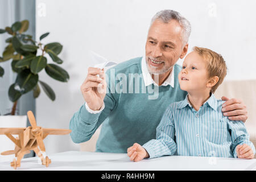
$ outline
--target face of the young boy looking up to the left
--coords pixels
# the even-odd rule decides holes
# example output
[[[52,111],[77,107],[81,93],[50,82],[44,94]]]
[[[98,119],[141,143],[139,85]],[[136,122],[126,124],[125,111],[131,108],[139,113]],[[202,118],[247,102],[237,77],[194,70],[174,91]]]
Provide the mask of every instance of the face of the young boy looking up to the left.
[[[189,53],[184,61],[182,69],[179,73],[179,83],[181,90],[187,92],[205,92],[209,90],[207,83],[209,74],[207,64],[203,57],[195,51]]]

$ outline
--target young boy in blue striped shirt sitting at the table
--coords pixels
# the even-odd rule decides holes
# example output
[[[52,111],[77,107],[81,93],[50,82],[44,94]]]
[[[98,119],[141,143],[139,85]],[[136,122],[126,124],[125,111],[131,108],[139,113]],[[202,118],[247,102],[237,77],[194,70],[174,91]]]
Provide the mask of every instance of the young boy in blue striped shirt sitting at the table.
[[[222,112],[224,101],[213,93],[226,76],[221,55],[194,47],[179,73],[184,101],[168,106],[156,128],[156,139],[127,149],[130,160],[164,155],[215,156],[253,159],[255,147],[241,121],[230,121]]]

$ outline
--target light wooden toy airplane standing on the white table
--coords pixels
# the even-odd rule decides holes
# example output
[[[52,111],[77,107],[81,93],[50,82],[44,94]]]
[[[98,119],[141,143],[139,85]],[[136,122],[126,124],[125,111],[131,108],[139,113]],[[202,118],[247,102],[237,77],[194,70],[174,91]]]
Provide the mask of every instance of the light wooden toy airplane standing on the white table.
[[[15,143],[14,150],[2,152],[1,155],[15,154],[17,160],[14,158],[13,162],[11,162],[11,167],[16,169],[20,167],[20,161],[23,156],[30,154],[30,150],[34,150],[36,155],[41,159],[42,165],[48,167],[49,164],[51,164],[51,160],[48,156],[44,156],[46,147],[44,146],[43,139],[46,138],[47,135],[66,135],[71,133],[71,130],[44,129],[40,126],[36,126],[36,120],[32,111],[28,111],[27,116],[31,124],[29,127],[0,128],[0,135],[6,135]],[[19,135],[19,137],[15,139],[13,135]]]

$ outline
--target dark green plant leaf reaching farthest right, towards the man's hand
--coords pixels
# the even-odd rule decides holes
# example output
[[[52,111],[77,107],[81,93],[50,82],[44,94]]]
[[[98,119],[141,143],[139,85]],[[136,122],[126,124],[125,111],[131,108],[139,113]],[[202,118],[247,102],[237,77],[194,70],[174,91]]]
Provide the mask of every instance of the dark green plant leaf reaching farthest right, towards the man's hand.
[[[67,82],[69,80],[68,72],[56,64],[47,64],[46,73],[55,80]]]

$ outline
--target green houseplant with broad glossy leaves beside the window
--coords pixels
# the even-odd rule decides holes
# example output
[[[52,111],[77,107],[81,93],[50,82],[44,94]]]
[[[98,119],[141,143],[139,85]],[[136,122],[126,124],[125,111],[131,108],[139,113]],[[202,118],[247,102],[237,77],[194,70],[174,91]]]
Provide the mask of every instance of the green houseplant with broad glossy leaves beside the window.
[[[1,67],[1,63],[4,61],[11,60],[11,68],[17,73],[16,80],[10,85],[8,91],[9,99],[13,102],[11,113],[8,113],[11,115],[15,115],[19,98],[31,90],[34,98],[37,98],[40,94],[40,86],[52,101],[55,100],[52,88],[46,82],[39,80],[41,71],[46,71],[48,76],[57,81],[67,82],[69,80],[68,72],[59,66],[63,63],[63,60],[58,57],[63,46],[57,42],[44,44],[42,40],[49,35],[49,32],[40,36],[39,41],[36,42],[31,35],[24,34],[28,27],[28,20],[23,20],[15,22],[11,27],[0,29],[0,34],[10,35],[5,40],[7,46],[0,57],[0,77],[5,73]],[[46,54],[54,63],[48,63]]]

